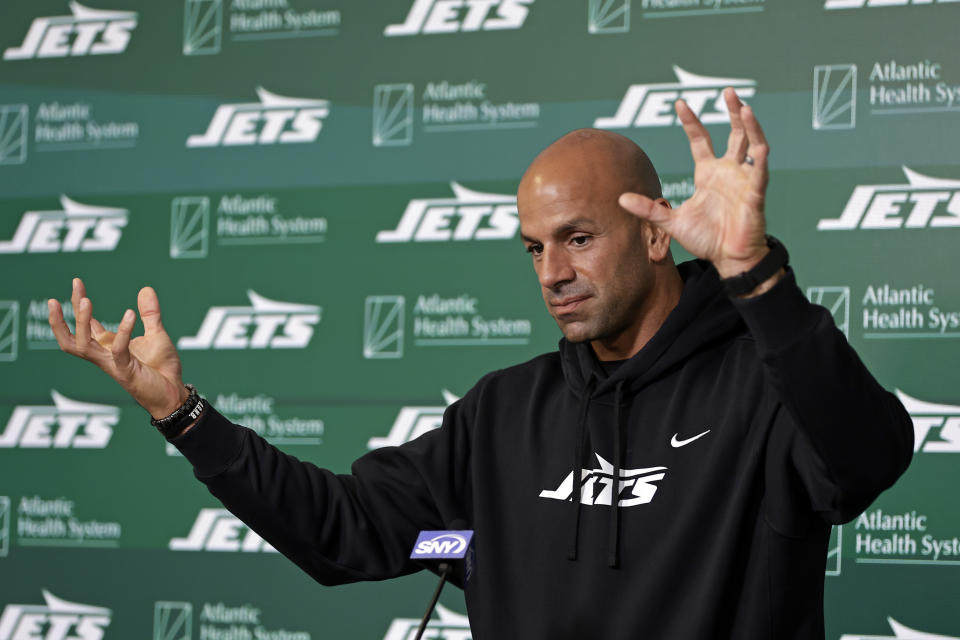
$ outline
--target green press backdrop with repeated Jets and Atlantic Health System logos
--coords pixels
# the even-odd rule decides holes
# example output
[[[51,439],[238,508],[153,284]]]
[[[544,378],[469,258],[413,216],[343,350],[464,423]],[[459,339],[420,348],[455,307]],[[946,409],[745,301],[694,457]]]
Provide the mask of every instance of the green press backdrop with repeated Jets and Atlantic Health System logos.
[[[555,348],[516,217],[537,151],[622,133],[679,203],[670,105],[722,148],[726,85],[771,232],[916,431],[833,532],[827,637],[960,638],[960,4],[88,1],[0,7],[0,640],[411,638],[430,576],[311,581],[57,350],[46,299],[72,319],[81,275],[110,326],[153,285],[188,381],[347,471]],[[428,637],[469,638],[441,605]]]

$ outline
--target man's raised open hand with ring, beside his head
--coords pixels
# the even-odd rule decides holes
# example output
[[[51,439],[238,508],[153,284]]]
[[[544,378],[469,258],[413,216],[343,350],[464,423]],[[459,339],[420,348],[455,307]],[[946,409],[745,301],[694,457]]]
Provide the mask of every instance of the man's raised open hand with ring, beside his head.
[[[730,113],[730,137],[720,157],[690,107],[683,100],[675,105],[693,155],[693,196],[670,209],[644,195],[625,193],[620,206],[662,228],[729,278],[748,271],[769,251],[763,213],[769,147],[753,109],[729,87],[723,96]]]

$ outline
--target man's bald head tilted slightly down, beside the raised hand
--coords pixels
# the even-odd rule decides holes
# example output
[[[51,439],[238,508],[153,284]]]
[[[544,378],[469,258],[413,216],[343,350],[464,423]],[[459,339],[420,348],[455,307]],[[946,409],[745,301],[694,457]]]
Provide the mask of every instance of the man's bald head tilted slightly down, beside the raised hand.
[[[617,203],[626,191],[662,201],[660,179],[640,147],[596,129],[551,144],[520,182],[524,245],[547,309],[572,342],[629,341],[660,302],[664,273],[676,273],[669,237]]]

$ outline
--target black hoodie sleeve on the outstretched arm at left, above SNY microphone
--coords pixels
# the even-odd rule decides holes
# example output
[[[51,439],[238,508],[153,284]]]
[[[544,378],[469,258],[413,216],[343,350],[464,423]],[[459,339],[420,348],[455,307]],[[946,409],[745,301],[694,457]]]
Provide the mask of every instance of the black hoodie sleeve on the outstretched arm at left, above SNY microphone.
[[[422,529],[469,513],[469,436],[463,401],[440,429],[372,451],[335,474],[302,462],[208,408],[171,442],[210,493],[322,584],[418,571],[409,560]]]

